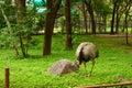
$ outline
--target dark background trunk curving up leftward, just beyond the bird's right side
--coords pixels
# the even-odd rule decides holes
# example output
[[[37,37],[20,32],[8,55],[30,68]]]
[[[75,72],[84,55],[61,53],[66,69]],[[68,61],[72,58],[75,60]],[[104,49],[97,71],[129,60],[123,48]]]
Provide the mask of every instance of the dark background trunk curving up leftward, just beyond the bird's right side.
[[[87,7],[87,10],[89,12],[90,19],[91,19],[91,30],[92,30],[92,34],[96,34],[96,21],[95,21],[95,15],[94,15],[94,10],[92,10],[92,4],[91,4],[91,0],[89,0],[88,2],[86,0],[82,0]]]

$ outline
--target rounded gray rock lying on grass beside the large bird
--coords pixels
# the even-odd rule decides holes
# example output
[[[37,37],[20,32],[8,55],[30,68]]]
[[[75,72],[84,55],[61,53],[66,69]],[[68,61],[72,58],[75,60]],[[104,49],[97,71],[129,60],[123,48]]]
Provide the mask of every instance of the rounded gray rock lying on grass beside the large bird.
[[[62,76],[78,70],[78,65],[68,59],[61,59],[50,67],[48,73]]]

